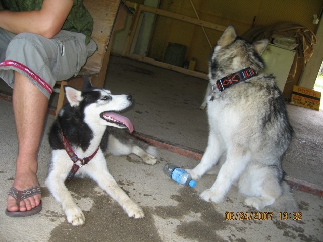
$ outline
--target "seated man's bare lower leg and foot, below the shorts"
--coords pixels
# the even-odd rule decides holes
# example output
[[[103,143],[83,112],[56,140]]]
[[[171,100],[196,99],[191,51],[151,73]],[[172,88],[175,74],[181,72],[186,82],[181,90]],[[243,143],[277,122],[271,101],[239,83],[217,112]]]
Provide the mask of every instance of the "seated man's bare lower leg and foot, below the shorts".
[[[48,98],[28,78],[15,72],[13,108],[18,136],[18,157],[13,187],[25,190],[38,186],[37,153],[48,107]],[[17,201],[8,196],[7,209],[10,212],[26,211],[39,205],[41,194]]]

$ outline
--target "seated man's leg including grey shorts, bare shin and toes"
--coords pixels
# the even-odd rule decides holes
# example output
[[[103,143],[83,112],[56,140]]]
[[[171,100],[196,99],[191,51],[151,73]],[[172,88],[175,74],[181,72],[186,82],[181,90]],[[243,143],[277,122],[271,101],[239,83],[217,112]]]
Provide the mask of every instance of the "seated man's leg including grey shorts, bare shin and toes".
[[[14,88],[19,151],[12,186],[17,190],[38,186],[37,152],[51,94],[51,90],[45,87],[52,88],[57,80],[66,80],[78,73],[86,57],[96,49],[95,43],[85,45],[84,40],[83,34],[69,31],[61,31],[50,40],[22,33],[14,36],[8,45],[6,60],[10,61],[3,61],[0,65],[0,77]],[[20,74],[21,71],[24,75]],[[7,210],[31,210],[39,205],[40,199],[40,194],[31,196],[22,200],[18,208],[16,200],[9,195]]]

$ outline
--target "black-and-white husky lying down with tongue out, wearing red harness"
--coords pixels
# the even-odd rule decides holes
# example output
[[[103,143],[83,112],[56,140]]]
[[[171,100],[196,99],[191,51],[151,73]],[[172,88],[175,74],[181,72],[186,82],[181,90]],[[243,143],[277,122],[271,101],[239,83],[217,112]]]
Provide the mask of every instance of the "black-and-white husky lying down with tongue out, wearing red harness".
[[[53,123],[49,143],[51,164],[46,185],[61,203],[68,222],[82,225],[85,217],[65,186],[73,176],[89,176],[116,200],[129,217],[143,218],[142,209],[117,185],[106,166],[105,153],[129,155],[134,153],[147,164],[155,164],[155,148],[136,139],[124,128],[133,131],[130,120],[116,111],[129,107],[131,95],[112,95],[109,90],[91,86],[84,78],[82,91],[65,86],[68,103]],[[113,112],[115,111],[115,112]]]

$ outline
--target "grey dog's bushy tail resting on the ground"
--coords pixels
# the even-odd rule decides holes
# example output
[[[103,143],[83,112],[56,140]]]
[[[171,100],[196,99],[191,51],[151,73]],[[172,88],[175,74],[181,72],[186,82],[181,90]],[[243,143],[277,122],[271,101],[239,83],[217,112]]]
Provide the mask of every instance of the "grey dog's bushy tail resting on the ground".
[[[286,181],[282,181],[282,195],[270,207],[278,212],[299,212],[298,204]]]

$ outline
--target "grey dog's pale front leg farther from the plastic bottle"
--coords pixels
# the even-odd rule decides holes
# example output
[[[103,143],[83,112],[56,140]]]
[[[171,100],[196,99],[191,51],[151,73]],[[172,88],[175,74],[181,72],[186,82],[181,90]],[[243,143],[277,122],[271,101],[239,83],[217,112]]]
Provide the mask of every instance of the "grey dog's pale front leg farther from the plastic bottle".
[[[222,165],[216,182],[210,189],[203,191],[200,198],[207,202],[221,203],[234,181],[244,171],[250,159],[250,151],[229,148],[227,151],[227,160]]]

